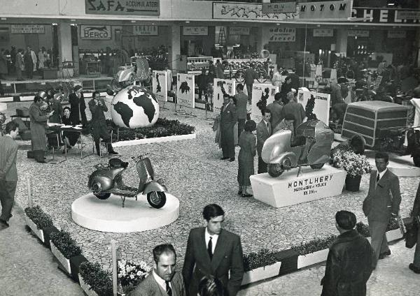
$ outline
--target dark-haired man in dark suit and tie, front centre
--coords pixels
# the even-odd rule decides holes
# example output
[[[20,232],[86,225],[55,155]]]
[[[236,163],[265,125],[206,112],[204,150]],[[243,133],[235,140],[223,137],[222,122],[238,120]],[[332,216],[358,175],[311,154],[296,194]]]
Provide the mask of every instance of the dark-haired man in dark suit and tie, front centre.
[[[203,276],[219,279],[228,296],[237,295],[244,276],[241,239],[222,228],[225,212],[216,204],[203,210],[207,227],[194,228],[188,236],[183,278],[188,295],[197,295],[198,284]]]

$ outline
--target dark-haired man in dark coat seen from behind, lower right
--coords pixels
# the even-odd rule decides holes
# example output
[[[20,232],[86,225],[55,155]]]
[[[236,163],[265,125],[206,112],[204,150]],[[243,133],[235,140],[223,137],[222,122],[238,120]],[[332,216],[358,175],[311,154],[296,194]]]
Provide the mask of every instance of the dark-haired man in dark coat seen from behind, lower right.
[[[363,296],[372,273],[372,247],[357,230],[356,215],[348,211],[335,214],[339,236],[328,252],[321,296]]]

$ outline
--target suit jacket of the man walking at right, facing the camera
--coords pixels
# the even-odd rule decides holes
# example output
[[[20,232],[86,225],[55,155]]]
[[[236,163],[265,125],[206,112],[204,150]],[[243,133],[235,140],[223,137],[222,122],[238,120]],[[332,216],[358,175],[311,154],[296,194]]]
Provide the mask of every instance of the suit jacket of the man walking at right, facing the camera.
[[[370,173],[369,191],[363,201],[363,213],[370,221],[388,222],[391,212],[400,211],[401,193],[400,182],[390,170],[376,184],[377,171]]]

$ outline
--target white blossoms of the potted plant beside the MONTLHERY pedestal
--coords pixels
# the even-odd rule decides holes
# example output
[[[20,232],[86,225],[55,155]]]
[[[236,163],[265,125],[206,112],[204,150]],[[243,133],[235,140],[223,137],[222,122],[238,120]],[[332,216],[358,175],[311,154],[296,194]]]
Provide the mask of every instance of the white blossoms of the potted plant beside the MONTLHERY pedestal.
[[[339,170],[346,170],[351,177],[361,176],[372,171],[372,165],[366,156],[353,151],[337,149],[332,154],[332,165]]]

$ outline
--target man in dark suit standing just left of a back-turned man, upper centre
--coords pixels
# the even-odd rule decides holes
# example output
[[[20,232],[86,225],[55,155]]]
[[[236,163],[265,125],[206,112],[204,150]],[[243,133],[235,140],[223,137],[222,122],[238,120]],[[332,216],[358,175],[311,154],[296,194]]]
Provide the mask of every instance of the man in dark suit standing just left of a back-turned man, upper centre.
[[[233,128],[237,122],[237,108],[233,99],[228,94],[223,95],[225,100],[221,110],[221,146],[223,157],[222,160],[229,159],[235,161],[235,142],[233,139]]]

